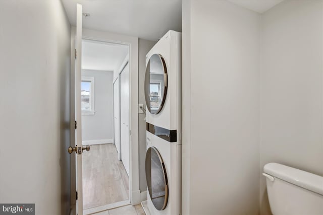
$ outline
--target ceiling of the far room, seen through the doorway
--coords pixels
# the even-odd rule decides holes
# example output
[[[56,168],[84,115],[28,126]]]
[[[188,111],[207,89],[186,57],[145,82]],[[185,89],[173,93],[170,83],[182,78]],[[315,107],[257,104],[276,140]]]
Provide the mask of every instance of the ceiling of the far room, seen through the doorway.
[[[127,45],[82,40],[82,69],[114,71],[128,54]]]

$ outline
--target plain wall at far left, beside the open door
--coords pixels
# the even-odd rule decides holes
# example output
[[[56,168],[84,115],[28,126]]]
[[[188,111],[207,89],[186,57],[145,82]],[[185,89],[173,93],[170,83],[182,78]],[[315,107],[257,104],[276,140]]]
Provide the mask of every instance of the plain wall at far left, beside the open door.
[[[70,24],[61,1],[0,1],[0,202],[70,209]]]

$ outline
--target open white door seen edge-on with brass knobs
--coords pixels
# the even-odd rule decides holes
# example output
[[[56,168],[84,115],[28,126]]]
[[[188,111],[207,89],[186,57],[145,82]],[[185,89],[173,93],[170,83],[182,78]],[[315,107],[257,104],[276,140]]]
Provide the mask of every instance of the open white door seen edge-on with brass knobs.
[[[83,215],[83,182],[82,154],[89,151],[90,146],[82,146],[82,112],[81,112],[81,82],[82,82],[82,5],[76,4],[76,37],[75,37],[75,146],[69,147],[68,152],[76,153],[76,214]]]

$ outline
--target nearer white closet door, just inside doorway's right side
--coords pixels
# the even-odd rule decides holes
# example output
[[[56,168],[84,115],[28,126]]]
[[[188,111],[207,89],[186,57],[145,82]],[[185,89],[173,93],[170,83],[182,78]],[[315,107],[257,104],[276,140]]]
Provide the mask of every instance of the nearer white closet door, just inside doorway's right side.
[[[120,74],[121,160],[130,175],[129,166],[129,64]]]

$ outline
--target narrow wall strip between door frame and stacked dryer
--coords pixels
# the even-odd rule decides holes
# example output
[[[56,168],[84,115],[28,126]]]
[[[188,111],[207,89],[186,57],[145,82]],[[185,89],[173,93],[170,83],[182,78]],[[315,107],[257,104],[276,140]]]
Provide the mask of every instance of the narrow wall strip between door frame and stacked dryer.
[[[155,43],[155,41],[139,39],[139,104],[144,104],[144,107],[146,107],[144,92],[146,54],[150,51],[150,49],[152,48],[152,46],[154,46]],[[145,114],[139,114],[139,189],[141,192],[147,190],[145,158],[146,121]]]

